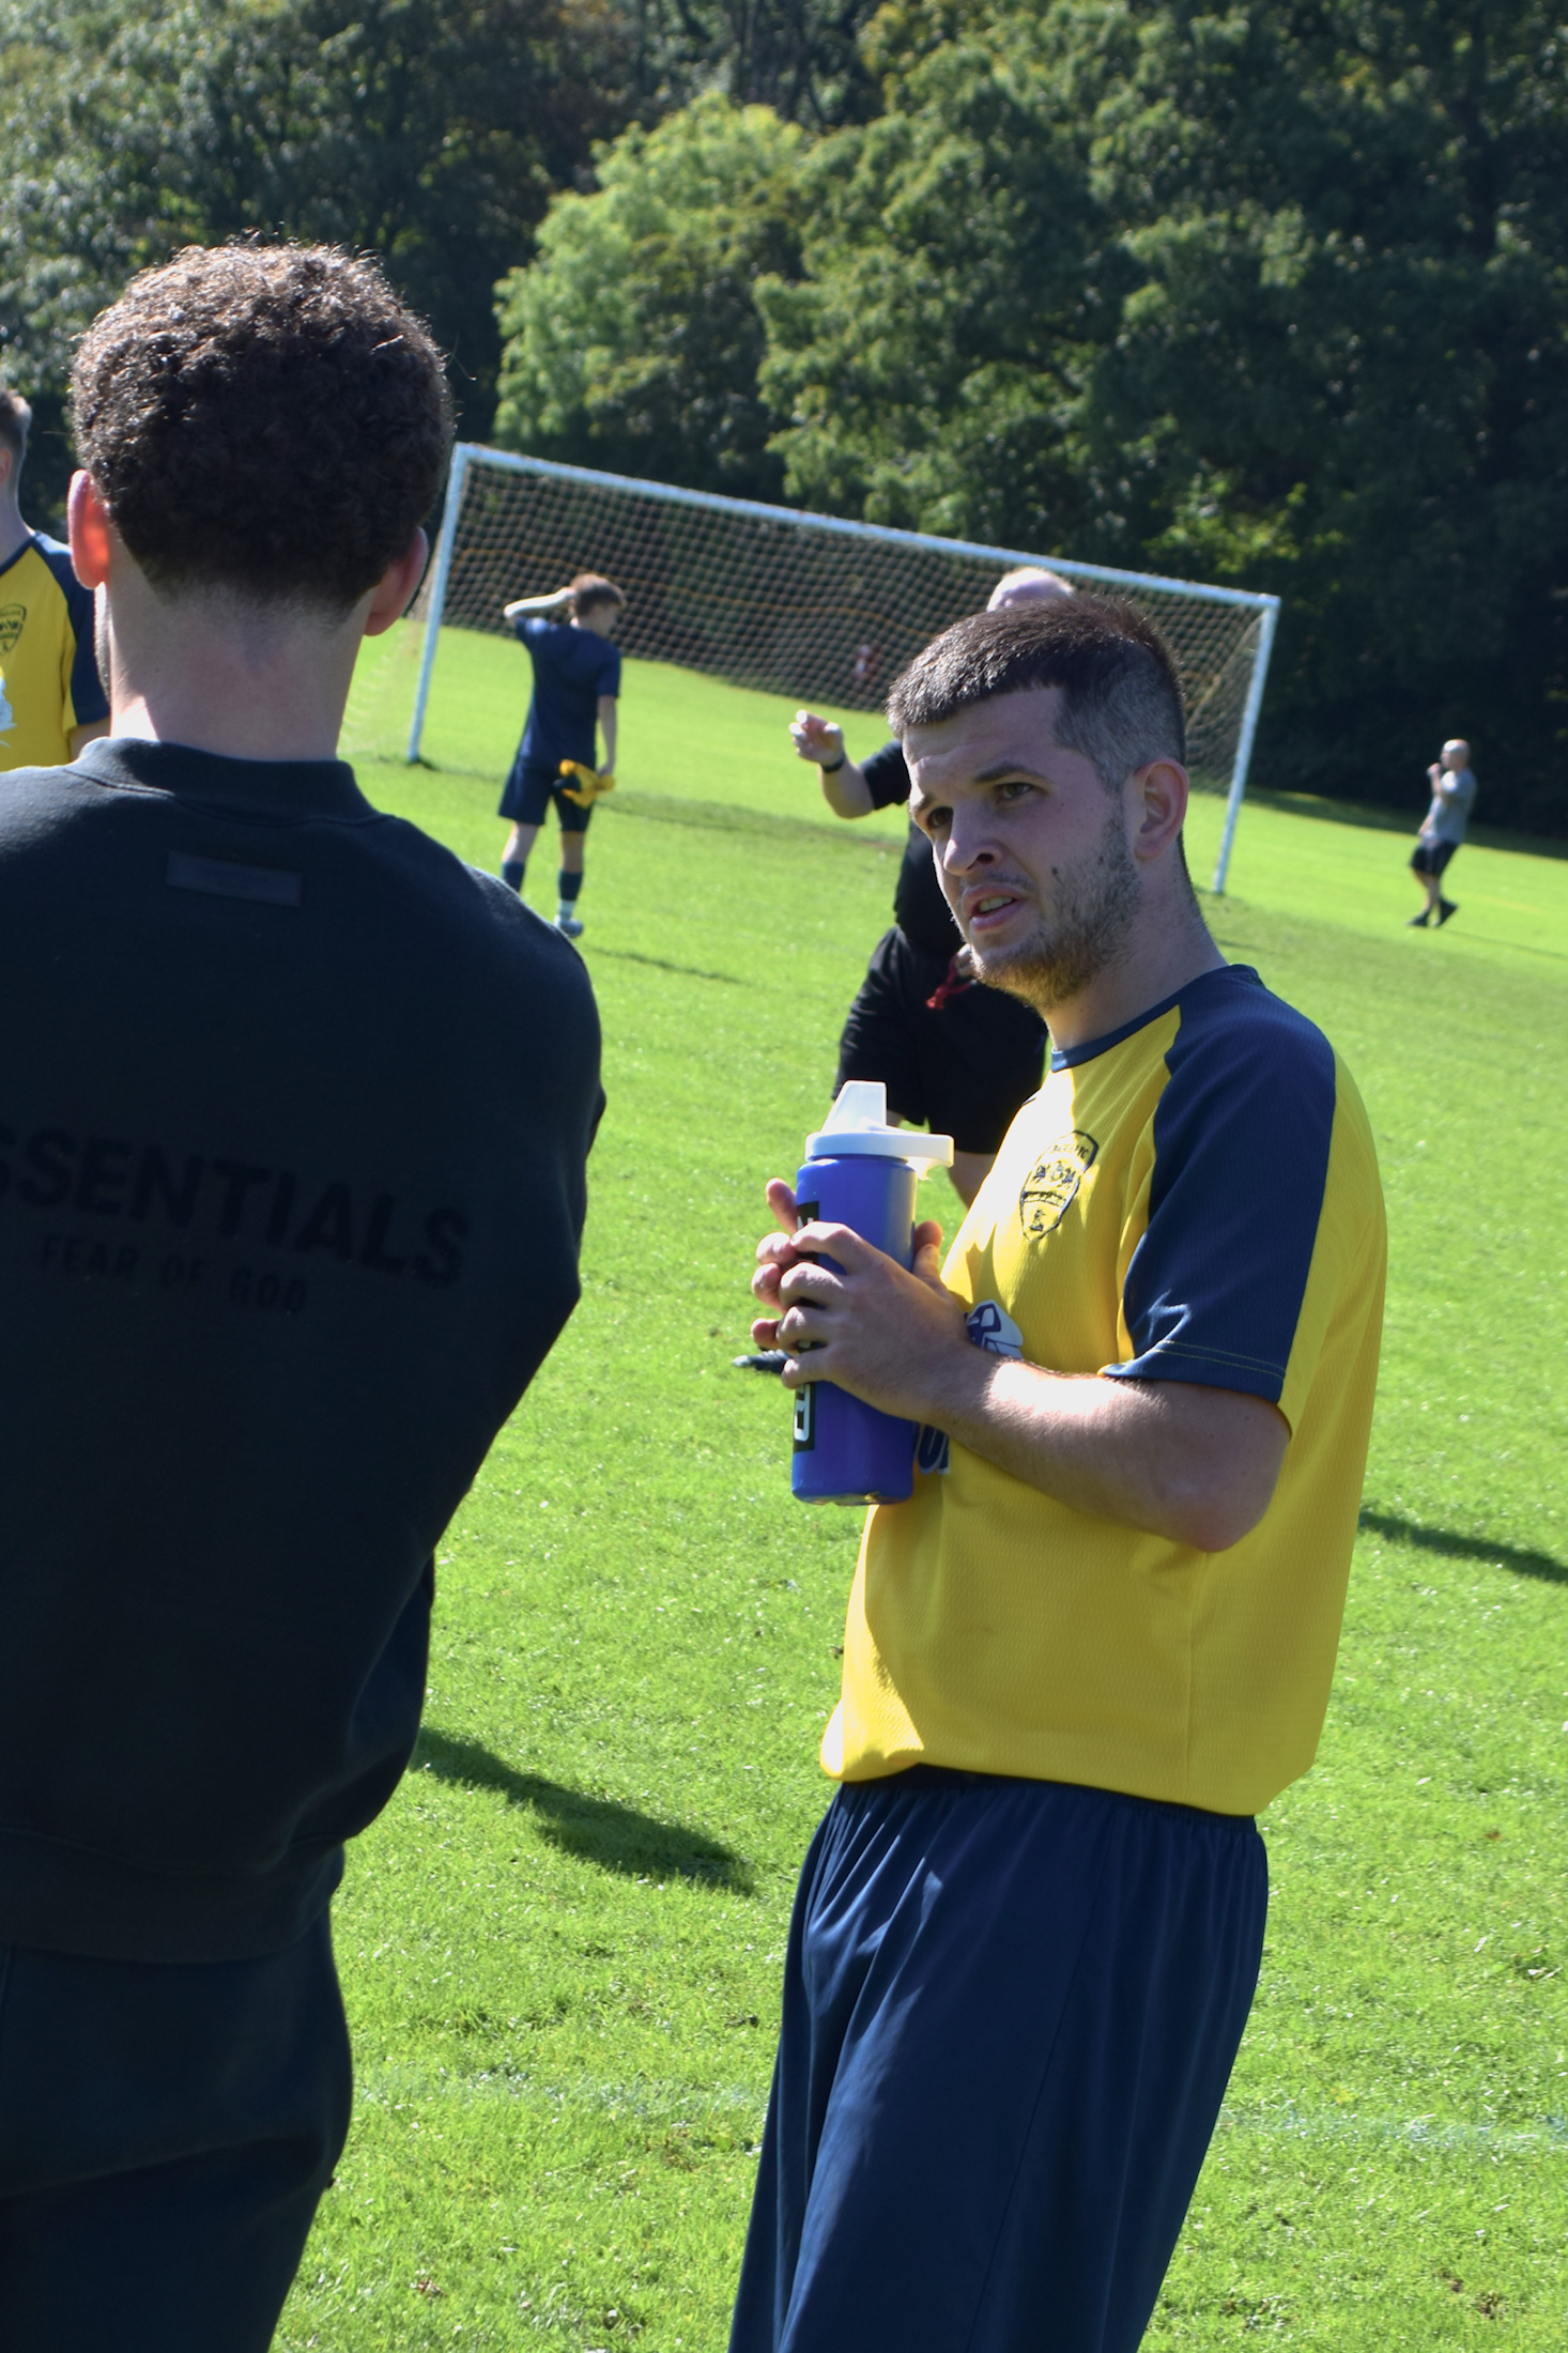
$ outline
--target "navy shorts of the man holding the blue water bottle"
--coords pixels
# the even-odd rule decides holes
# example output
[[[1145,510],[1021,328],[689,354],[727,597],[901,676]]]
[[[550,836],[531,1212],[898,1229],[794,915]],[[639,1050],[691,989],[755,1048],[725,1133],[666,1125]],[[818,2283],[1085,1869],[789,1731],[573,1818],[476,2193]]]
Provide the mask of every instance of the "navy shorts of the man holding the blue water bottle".
[[[1245,1817],[925,1765],[841,1788],[732,2353],[1135,2353],[1267,1901]]]

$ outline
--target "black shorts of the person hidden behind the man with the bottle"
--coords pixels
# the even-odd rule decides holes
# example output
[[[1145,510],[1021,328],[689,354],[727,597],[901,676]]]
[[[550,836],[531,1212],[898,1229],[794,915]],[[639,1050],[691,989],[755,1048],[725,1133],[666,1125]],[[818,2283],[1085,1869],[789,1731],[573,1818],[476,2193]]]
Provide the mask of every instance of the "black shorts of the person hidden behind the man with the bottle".
[[[946,960],[885,932],[838,1040],[838,1078],[881,1078],[888,1111],[961,1153],[994,1153],[1045,1071],[1045,1024],[998,988],[961,988],[928,1007]]]

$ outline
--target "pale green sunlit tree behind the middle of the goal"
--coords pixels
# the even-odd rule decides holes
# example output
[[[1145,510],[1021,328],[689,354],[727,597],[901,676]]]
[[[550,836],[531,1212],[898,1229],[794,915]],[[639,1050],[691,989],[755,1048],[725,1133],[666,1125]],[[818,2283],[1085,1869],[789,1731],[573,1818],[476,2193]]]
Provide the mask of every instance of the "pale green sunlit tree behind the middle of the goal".
[[[777,499],[756,398],[760,273],[793,275],[803,134],[711,92],[558,195],[539,256],[501,282],[497,438],[509,449]]]

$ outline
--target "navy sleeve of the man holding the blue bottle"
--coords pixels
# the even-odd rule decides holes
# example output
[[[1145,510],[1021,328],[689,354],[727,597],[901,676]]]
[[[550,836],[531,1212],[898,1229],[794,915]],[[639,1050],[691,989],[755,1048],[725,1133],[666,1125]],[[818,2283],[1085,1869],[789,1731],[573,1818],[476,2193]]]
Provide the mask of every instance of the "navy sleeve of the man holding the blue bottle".
[[[1333,1047],[1255,981],[1201,984],[1165,1068],[1149,1226],[1123,1282],[1135,1355],[1107,1372],[1278,1405],[1328,1184]]]

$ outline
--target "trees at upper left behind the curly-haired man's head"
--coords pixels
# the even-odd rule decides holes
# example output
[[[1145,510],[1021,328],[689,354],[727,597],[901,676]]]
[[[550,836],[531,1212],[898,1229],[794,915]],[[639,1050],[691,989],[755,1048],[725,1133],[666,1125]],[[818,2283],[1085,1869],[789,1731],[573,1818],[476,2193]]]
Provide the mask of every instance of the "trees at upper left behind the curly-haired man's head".
[[[0,0],[7,374],[57,426],[71,344],[129,271],[287,231],[386,261],[473,431],[494,278],[622,82],[607,0]]]

